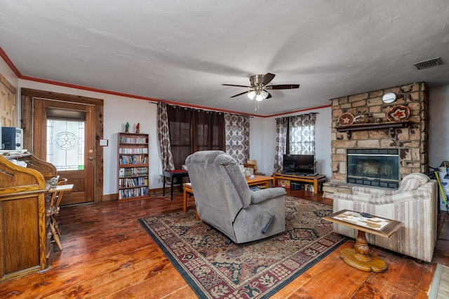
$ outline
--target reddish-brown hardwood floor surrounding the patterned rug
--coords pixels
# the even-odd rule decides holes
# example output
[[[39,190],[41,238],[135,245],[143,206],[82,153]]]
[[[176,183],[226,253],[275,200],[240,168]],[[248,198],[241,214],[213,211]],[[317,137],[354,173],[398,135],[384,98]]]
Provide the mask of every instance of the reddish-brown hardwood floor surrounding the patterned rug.
[[[332,204],[307,191],[290,195]],[[189,201],[189,207],[193,202]],[[0,298],[197,298],[138,223],[138,218],[182,209],[182,195],[148,200],[61,207],[62,251],[42,273],[0,283]],[[272,298],[427,298],[436,263],[449,266],[449,217],[440,214],[433,263],[370,246],[387,261],[384,273],[346,265],[340,249],[311,267]]]

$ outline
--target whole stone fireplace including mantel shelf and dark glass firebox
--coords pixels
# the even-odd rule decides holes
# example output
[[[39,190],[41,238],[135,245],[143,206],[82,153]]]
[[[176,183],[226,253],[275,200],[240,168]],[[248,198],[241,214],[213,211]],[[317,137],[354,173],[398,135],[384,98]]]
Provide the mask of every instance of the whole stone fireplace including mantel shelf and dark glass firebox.
[[[396,101],[389,104],[382,102],[382,96],[387,92],[394,92]],[[351,193],[354,184],[397,188],[407,174],[428,171],[429,106],[425,83],[364,92],[330,101],[332,176],[330,182],[323,186],[325,197],[332,198],[337,191]],[[406,106],[410,116],[391,121],[391,116],[389,119],[387,114],[398,105]],[[342,123],[339,120],[344,113],[350,113],[354,118],[363,117],[363,123]],[[359,155],[373,150],[382,150],[387,155],[370,161]],[[391,158],[391,155],[396,157]]]

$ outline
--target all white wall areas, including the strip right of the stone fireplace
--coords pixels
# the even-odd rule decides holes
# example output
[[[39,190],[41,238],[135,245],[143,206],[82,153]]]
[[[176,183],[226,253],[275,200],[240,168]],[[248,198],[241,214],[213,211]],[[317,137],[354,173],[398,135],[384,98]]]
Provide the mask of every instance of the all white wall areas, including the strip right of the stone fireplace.
[[[156,134],[156,104],[142,99],[119,97],[100,92],[90,92],[75,88],[65,88],[58,85],[20,80],[4,60],[1,59],[0,74],[5,76],[13,86],[18,88],[19,99],[20,88],[33,88],[36,90],[62,92],[70,95],[95,97],[105,100],[103,138],[109,139],[109,146],[104,148],[105,184],[103,193],[105,195],[117,192],[117,133],[124,130],[126,122],[130,123],[131,132],[135,130],[135,125],[140,123],[140,131],[149,133],[150,188],[161,188],[161,164]],[[429,99],[429,162],[430,166],[438,167],[443,160],[449,160],[449,85],[429,88]],[[326,174],[326,176],[330,177],[330,107],[291,113],[289,115],[311,112],[318,113],[316,116],[317,170],[321,174]],[[18,119],[20,119],[20,116]],[[257,167],[260,172],[264,172],[267,175],[271,175],[273,172],[275,132],[275,117],[250,118],[250,159],[257,160]]]

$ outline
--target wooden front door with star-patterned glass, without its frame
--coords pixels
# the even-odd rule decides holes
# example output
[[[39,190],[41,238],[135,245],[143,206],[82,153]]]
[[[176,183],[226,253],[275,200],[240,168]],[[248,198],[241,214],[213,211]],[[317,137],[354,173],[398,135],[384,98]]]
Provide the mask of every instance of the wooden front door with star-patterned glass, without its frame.
[[[33,153],[51,162],[73,183],[61,204],[93,202],[95,194],[95,106],[33,99]]]

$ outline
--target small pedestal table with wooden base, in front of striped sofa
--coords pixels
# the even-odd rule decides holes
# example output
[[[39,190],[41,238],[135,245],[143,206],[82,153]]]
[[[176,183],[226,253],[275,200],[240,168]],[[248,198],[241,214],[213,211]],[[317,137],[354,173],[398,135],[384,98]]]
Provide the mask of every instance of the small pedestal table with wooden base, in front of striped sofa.
[[[329,216],[323,217],[323,219],[358,230],[354,248],[346,248],[340,251],[340,257],[345,263],[366,272],[380,273],[387,270],[387,264],[384,260],[370,256],[370,249],[366,241],[365,233],[368,232],[381,237],[390,237],[396,230],[401,228],[402,223],[400,221],[377,216],[371,216],[370,218],[363,217],[360,213],[347,209],[337,211],[337,213],[330,214]]]

